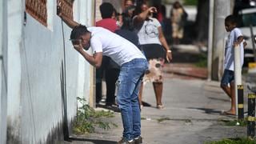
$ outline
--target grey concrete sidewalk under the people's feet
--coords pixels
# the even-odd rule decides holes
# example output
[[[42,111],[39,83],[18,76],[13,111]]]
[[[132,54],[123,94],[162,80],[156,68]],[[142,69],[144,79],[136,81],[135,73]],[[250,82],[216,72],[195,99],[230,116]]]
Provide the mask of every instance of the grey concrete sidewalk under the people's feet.
[[[219,88],[218,82],[166,74],[163,90],[165,109],[155,108],[154,90],[150,83],[145,86],[143,101],[151,105],[142,109],[143,143],[197,144],[246,136],[246,127],[222,125],[222,120],[235,117],[220,114],[222,110],[230,109],[230,99]],[[109,120],[116,123],[117,128],[73,136],[73,142],[66,143],[116,143],[122,137],[122,120],[119,113],[115,115]]]

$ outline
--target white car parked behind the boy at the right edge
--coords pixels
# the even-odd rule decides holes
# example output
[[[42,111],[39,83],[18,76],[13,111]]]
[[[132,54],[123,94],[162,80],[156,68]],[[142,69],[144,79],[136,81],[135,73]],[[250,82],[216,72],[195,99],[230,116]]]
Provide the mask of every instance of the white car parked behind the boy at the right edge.
[[[254,47],[256,36],[256,8],[246,8],[238,12],[238,27],[242,30],[244,39],[247,42],[245,47],[245,65],[254,62]],[[251,28],[251,30],[250,30]],[[254,46],[253,46],[254,45]]]

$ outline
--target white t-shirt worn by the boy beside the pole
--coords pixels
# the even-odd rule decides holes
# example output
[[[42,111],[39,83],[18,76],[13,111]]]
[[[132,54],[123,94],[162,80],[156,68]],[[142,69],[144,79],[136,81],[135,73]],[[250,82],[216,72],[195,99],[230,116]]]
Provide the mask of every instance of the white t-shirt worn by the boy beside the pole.
[[[234,28],[234,30],[230,31],[229,37],[226,40],[226,47],[225,47],[225,58],[224,58],[224,68],[226,70],[233,70],[234,71],[234,42],[238,41],[238,37],[242,36],[241,30],[238,28]],[[240,44],[241,50],[241,66],[243,65],[244,59],[244,49],[243,43]]]

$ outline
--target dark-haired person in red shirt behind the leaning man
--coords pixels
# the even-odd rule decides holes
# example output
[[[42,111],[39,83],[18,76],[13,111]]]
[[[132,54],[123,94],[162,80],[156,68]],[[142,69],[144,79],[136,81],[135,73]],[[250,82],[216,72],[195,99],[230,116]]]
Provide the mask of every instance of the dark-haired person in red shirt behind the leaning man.
[[[96,26],[103,27],[111,32],[118,30],[117,21],[113,18],[115,15],[114,6],[110,2],[103,2],[99,6],[102,14],[102,20],[96,22]],[[105,73],[106,80],[106,106],[115,104],[115,82],[118,79],[119,66],[111,58],[103,56],[102,66],[96,70],[96,102],[102,98],[102,77]]]

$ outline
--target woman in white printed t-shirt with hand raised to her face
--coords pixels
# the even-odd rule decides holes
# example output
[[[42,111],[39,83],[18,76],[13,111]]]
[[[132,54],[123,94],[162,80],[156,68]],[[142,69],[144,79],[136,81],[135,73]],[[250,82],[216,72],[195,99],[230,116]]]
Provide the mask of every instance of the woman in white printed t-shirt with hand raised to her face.
[[[156,107],[162,109],[162,67],[165,58],[168,62],[172,59],[171,50],[162,33],[161,24],[156,18],[150,17],[153,13],[157,13],[156,8],[148,8],[146,3],[142,3],[136,8],[135,13],[137,15],[134,16],[134,26],[138,30],[138,47],[146,55],[149,62],[149,70],[146,71],[143,82],[144,84],[153,82]],[[142,90],[143,85],[139,94],[141,106]]]

